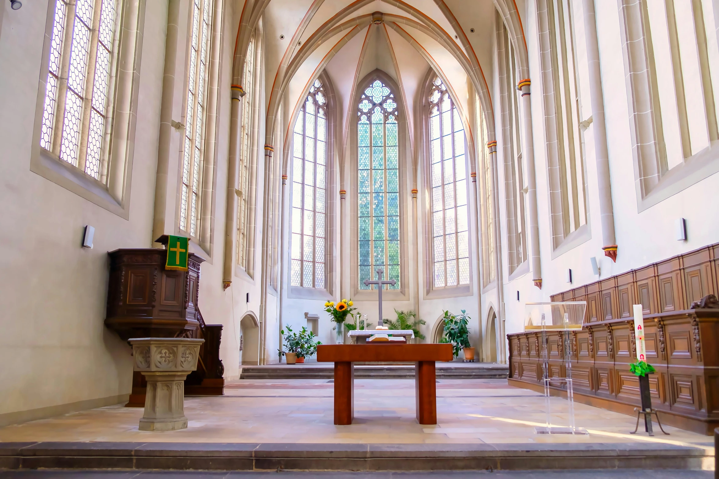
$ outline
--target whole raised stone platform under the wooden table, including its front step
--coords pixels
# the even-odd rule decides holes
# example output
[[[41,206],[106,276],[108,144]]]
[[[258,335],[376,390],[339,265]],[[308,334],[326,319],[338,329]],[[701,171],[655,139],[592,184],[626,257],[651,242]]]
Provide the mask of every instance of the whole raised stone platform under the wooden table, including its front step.
[[[636,418],[585,404],[575,410],[589,435],[535,434],[544,396],[506,379],[439,379],[438,424],[421,426],[414,381],[387,381],[355,381],[348,426],[332,424],[333,383],[302,379],[229,381],[225,396],[188,396],[180,431],[139,431],[142,410],[122,404],[7,426],[0,468],[713,468],[712,437],[675,427],[664,437],[628,434]]]

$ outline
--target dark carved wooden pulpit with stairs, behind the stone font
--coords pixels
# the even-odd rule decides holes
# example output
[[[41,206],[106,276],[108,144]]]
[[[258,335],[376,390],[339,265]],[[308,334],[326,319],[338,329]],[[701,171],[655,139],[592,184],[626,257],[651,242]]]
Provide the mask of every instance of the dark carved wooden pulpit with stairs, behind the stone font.
[[[168,236],[157,238],[167,246]],[[224,394],[224,366],[219,358],[222,325],[205,324],[198,307],[200,265],[188,254],[188,271],[165,269],[168,251],[117,249],[109,253],[110,279],[105,325],[129,338],[202,338],[198,367],[185,381],[185,394]],[[145,406],[147,383],[132,376],[129,407]]]

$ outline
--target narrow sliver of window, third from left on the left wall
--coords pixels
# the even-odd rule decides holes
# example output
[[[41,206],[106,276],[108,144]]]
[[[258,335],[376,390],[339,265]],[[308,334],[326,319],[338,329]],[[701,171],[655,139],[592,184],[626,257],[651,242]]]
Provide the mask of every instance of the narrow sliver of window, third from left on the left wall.
[[[254,162],[250,158],[250,132],[252,131],[252,108],[255,104],[255,37],[249,42],[244,60],[244,96],[239,132],[239,177],[237,179],[237,264],[247,268],[247,239],[249,227],[249,176]]]

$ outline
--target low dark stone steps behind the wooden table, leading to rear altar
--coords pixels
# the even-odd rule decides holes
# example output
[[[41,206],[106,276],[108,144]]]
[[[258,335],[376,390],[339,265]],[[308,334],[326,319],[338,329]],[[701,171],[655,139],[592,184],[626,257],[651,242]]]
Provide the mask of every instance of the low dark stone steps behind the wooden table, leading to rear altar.
[[[438,379],[505,379],[509,368],[503,364],[437,363]],[[334,366],[318,363],[242,366],[240,379],[332,379]],[[414,365],[355,365],[355,379],[413,379]]]

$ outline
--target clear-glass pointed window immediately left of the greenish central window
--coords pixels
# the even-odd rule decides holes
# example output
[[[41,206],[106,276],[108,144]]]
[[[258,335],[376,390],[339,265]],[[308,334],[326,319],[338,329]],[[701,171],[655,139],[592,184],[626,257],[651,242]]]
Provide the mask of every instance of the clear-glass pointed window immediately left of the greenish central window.
[[[327,96],[315,80],[293,131],[290,284],[325,288]]]

